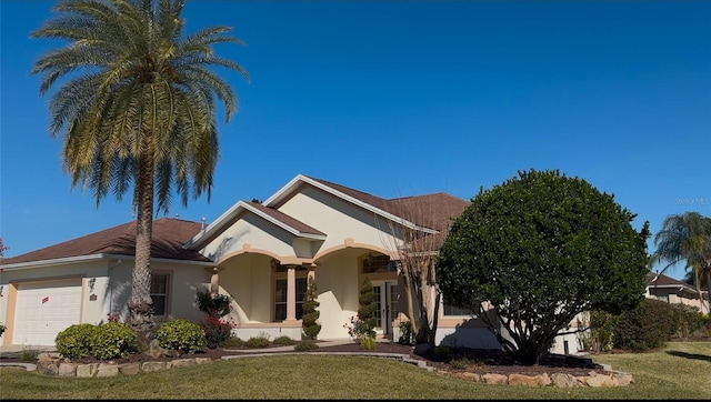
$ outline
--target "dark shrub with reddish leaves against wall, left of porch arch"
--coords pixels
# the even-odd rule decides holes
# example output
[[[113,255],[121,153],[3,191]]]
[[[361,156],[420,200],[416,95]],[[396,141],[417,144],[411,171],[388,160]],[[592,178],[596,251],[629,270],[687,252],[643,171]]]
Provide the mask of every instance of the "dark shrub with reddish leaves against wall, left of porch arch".
[[[211,294],[199,290],[196,297],[198,309],[204,313],[200,321],[200,328],[204,331],[208,348],[214,349],[232,336],[232,329],[237,323],[231,319],[224,319],[232,310],[231,298],[228,294]]]

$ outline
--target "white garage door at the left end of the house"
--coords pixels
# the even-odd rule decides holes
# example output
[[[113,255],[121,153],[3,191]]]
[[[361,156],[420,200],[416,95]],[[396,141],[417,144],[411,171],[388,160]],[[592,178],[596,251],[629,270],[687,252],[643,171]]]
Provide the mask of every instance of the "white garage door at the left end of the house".
[[[18,285],[12,343],[53,345],[57,334],[81,320],[81,278]]]

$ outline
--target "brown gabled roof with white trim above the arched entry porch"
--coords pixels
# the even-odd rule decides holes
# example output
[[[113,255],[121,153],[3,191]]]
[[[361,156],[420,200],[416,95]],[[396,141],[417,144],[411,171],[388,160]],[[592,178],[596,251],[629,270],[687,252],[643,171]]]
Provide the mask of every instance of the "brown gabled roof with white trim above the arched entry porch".
[[[387,220],[421,231],[425,234],[435,234],[445,231],[449,227],[450,218],[459,215],[464,208],[469,205],[469,201],[442,192],[388,200],[327,180],[298,174],[261,204],[239,201],[212,222],[203,232],[198,233],[186,247],[190,249],[202,248],[212,241],[224,227],[232,224],[243,210],[250,210],[290,231],[294,235],[326,239],[326,234],[318,229],[311,228],[278,210],[279,207],[293,197],[303,185],[312,185]],[[438,237],[441,238],[439,241],[441,244],[441,240],[443,240],[442,233],[439,233]]]

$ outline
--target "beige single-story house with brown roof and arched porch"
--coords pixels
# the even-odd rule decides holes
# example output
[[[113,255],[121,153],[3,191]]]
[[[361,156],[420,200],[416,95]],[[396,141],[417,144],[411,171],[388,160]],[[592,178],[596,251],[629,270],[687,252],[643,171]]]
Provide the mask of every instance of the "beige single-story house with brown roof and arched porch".
[[[469,201],[447,193],[382,199],[297,175],[264,202],[239,201],[208,227],[162,218],[153,223],[152,289],[157,322],[201,319],[200,289],[233,298],[234,335],[301,339],[308,278],[318,287],[319,339],[349,338],[360,287],[375,291],[380,336],[398,340],[404,315],[397,247],[403,228],[441,245],[451,219]],[[412,213],[413,210],[419,213]],[[414,218],[413,218],[414,217]],[[1,261],[2,344],[53,344],[76,323],[126,314],[131,293],[136,222]],[[481,320],[440,304],[437,343],[499,349]],[[570,335],[557,342],[578,342]]]

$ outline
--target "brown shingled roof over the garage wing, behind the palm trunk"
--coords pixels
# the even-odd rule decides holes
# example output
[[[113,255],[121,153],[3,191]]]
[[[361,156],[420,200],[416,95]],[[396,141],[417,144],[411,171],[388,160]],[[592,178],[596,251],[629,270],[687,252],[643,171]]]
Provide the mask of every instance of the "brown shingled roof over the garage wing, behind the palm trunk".
[[[200,232],[202,224],[174,218],[153,221],[151,258],[210,262],[197,251],[183,249],[183,244]],[[87,255],[136,255],[136,221],[87,234],[62,243],[28,253],[2,259],[2,268],[11,265]]]

